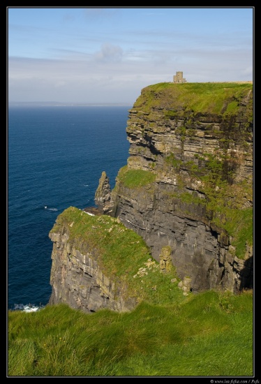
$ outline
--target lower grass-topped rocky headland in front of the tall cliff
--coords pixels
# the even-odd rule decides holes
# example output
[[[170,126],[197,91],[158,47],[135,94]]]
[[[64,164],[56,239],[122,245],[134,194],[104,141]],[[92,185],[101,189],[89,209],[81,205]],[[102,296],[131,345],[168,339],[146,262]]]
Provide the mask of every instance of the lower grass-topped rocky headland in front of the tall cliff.
[[[169,302],[187,294],[167,263],[167,249],[160,265],[142,237],[110,216],[69,207],[49,236],[54,243],[49,304],[64,302],[84,312],[125,312],[142,300],[163,302],[165,292]]]

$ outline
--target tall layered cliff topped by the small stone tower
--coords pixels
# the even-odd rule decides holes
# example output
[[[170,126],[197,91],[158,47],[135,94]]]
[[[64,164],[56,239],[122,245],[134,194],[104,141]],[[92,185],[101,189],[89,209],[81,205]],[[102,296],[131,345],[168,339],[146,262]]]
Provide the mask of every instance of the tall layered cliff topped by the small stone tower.
[[[252,84],[156,84],[129,111],[112,214],[191,290],[253,284]],[[246,228],[247,227],[247,228]]]

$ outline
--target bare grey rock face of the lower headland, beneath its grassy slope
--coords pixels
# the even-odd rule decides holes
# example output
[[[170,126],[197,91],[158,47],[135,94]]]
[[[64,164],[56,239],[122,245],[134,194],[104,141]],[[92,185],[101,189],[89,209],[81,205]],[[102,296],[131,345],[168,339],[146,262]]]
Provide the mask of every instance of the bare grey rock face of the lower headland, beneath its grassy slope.
[[[54,242],[49,304],[64,302],[84,312],[98,309],[130,311],[135,300],[124,300],[122,287],[115,292],[115,283],[103,274],[91,253],[83,254],[68,242],[66,235],[50,235]]]

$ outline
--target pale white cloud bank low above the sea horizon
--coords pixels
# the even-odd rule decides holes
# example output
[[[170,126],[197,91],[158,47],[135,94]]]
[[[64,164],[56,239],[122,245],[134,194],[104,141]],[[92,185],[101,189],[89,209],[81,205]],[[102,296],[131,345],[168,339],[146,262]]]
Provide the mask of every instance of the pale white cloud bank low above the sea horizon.
[[[119,49],[118,49],[119,48]],[[103,46],[99,60],[9,59],[10,101],[126,102],[133,104],[142,88],[171,82],[183,71],[190,82],[252,80],[251,57],[225,52],[178,52],[157,62],[130,60],[120,47]],[[195,52],[194,52],[195,53]],[[138,53],[137,53],[138,54]],[[117,60],[118,55],[121,59]],[[124,59],[123,59],[124,57]],[[94,58],[97,58],[94,55]],[[115,59],[116,58],[116,59]]]

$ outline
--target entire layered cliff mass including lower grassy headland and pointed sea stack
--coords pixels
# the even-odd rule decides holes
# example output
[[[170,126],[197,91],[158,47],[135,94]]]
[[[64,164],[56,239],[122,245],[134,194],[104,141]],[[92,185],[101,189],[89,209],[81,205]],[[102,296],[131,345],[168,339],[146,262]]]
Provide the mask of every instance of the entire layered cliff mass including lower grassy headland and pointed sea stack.
[[[174,288],[252,288],[253,85],[151,85],[126,132],[114,189],[103,172],[92,214],[70,207],[50,232],[50,304],[128,311]]]

